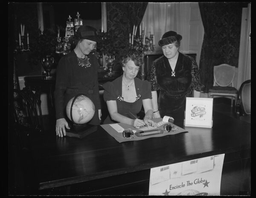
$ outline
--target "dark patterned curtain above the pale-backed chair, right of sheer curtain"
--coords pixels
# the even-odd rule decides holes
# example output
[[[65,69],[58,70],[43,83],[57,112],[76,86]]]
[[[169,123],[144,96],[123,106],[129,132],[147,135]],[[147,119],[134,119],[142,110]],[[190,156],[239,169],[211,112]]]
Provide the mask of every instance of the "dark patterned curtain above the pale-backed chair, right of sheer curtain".
[[[213,66],[222,63],[238,67],[242,6],[239,2],[199,3],[204,25],[200,57],[203,91],[213,85]]]

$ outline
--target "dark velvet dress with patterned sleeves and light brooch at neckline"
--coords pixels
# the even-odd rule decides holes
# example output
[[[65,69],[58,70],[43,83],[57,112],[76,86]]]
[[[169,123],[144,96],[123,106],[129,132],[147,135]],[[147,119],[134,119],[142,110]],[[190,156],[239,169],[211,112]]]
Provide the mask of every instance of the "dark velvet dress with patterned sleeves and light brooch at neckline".
[[[168,59],[161,56],[151,65],[148,81],[151,90],[159,90],[158,109],[161,118],[172,116],[176,121],[183,122],[186,109],[186,97],[193,97],[193,89],[201,91],[198,66],[195,60],[179,52],[175,66],[175,75]]]

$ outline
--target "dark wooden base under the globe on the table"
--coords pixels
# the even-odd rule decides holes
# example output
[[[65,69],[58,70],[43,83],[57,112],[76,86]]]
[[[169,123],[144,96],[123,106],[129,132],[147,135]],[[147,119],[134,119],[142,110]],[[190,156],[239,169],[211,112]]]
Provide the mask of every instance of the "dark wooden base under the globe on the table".
[[[70,129],[66,129],[66,136],[74,138],[84,138],[97,131],[98,126],[91,124],[73,124]]]

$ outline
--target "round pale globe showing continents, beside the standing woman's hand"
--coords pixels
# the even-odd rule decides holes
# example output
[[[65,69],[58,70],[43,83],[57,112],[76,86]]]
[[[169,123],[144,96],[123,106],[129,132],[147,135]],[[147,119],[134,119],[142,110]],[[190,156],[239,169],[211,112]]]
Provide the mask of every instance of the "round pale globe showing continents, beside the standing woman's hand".
[[[71,110],[73,119],[71,118]],[[73,123],[85,124],[93,118],[95,106],[90,98],[79,94],[69,100],[66,106],[66,113]]]

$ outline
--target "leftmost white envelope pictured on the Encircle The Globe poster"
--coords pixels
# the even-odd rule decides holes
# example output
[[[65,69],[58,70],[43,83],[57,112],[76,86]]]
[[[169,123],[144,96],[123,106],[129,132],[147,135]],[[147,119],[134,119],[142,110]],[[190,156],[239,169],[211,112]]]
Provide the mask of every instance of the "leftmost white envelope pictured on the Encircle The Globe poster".
[[[150,171],[150,183],[151,185],[154,185],[162,181],[169,180],[169,175],[169,165],[152,168]]]

